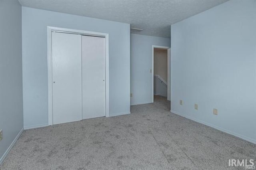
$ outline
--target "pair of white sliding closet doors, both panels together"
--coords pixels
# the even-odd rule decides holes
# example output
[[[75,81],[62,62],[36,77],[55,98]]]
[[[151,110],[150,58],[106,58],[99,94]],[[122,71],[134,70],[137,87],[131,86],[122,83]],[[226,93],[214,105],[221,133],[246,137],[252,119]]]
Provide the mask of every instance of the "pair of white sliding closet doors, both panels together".
[[[53,124],[106,115],[105,38],[52,32]]]

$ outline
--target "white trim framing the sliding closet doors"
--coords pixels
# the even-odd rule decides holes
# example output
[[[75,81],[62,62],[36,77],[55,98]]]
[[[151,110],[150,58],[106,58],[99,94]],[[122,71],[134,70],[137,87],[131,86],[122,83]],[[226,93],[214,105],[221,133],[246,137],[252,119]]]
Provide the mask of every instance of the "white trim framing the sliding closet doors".
[[[73,30],[47,26],[47,53],[48,53],[48,125],[53,125],[52,113],[52,31],[70,34],[81,34],[87,36],[100,36],[105,38],[105,83],[106,83],[106,117],[109,117],[109,60],[108,60],[108,34],[90,32],[84,30]]]

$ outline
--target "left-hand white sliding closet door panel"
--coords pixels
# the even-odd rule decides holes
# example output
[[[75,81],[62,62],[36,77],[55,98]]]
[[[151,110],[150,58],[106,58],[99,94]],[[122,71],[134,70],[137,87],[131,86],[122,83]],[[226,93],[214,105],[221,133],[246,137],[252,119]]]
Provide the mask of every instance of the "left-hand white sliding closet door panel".
[[[82,120],[81,35],[52,32],[53,124]]]

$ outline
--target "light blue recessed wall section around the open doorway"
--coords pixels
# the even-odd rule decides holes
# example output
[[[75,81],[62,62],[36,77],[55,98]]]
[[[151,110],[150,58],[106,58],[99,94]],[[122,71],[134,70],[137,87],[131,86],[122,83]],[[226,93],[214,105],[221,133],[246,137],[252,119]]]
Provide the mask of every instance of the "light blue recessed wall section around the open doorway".
[[[170,46],[170,38],[131,34],[131,105],[152,102],[152,45]]]

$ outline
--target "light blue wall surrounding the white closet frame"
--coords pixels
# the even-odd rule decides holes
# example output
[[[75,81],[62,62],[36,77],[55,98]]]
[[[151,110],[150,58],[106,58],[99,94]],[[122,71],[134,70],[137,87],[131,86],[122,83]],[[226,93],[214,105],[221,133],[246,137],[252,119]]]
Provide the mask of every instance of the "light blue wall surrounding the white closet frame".
[[[24,127],[48,124],[46,27],[109,34],[110,116],[130,111],[130,24],[22,7]]]

